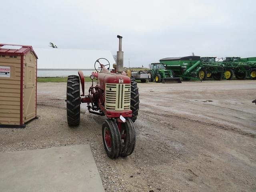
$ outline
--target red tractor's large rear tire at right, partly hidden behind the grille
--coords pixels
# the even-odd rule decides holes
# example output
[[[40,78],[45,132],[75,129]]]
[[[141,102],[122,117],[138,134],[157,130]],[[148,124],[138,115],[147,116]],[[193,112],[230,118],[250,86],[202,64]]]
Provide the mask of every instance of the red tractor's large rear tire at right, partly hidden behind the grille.
[[[131,79],[131,102],[130,108],[132,110],[132,122],[135,122],[140,109],[140,94],[137,82],[135,79]]]

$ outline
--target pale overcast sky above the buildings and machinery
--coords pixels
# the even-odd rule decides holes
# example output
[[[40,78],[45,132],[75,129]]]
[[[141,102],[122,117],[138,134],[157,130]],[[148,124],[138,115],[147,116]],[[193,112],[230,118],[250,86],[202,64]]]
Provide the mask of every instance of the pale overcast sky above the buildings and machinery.
[[[1,2],[0,43],[116,54],[119,34],[124,66],[133,67],[192,52],[249,57],[255,8],[254,0],[10,0]]]

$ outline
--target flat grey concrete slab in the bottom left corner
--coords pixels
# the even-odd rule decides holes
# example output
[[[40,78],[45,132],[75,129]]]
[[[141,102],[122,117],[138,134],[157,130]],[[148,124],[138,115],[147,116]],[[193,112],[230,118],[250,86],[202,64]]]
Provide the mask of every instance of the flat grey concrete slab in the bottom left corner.
[[[0,191],[104,192],[89,145],[0,153]]]

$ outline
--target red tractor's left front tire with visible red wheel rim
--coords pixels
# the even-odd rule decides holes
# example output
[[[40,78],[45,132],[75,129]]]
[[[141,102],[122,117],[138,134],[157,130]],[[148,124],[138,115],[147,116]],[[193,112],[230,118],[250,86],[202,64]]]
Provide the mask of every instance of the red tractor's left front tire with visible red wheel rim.
[[[116,122],[111,119],[104,120],[102,124],[102,139],[106,153],[110,159],[120,156],[122,145]]]

